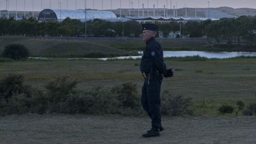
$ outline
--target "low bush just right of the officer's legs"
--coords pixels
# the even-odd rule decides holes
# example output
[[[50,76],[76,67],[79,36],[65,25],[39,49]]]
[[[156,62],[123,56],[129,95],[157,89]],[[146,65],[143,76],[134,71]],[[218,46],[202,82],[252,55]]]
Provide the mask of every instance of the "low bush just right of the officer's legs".
[[[165,91],[165,93],[169,92]],[[191,105],[192,98],[185,98],[183,95],[163,95],[162,114],[169,116],[193,115],[193,110],[190,109]]]

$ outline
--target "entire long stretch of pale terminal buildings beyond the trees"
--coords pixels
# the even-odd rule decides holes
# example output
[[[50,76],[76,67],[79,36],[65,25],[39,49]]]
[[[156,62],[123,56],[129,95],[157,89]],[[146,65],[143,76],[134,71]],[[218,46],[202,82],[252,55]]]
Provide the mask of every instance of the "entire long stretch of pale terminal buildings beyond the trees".
[[[85,15],[86,13],[86,15]],[[120,12],[121,13],[121,12]],[[136,20],[139,22],[150,22],[150,21],[204,21],[204,20],[219,20],[220,18],[235,18],[234,15],[226,14],[223,11],[215,11],[212,9],[205,9],[205,17],[187,17],[187,15],[183,16],[175,16],[171,15],[157,15],[152,17],[151,15],[144,15],[144,9],[142,11],[142,15],[139,16],[127,16],[127,15],[119,15],[117,17],[116,14],[112,11],[98,11],[94,9],[43,9],[38,15],[39,21],[63,21],[65,18],[78,19],[82,22],[100,19],[105,21],[129,21]],[[155,13],[153,14],[155,15]]]

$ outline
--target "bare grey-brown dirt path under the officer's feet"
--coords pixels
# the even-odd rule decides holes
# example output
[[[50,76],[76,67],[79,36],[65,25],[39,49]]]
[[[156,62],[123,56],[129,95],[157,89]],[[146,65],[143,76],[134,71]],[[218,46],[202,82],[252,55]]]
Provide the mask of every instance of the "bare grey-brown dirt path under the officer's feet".
[[[143,138],[146,117],[0,117],[0,143],[255,143],[255,117],[163,117],[160,137]]]

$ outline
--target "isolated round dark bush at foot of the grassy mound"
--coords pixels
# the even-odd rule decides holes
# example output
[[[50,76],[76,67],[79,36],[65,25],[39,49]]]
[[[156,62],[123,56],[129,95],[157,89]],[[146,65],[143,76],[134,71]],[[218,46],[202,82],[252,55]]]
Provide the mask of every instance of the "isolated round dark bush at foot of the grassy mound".
[[[3,57],[19,60],[29,56],[28,49],[23,44],[9,44],[2,53]]]

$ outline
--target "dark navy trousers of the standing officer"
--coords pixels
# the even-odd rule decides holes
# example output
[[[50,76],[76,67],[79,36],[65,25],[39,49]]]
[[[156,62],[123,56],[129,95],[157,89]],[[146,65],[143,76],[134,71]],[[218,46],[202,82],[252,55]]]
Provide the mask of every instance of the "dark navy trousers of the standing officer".
[[[153,77],[153,78],[152,78]],[[160,103],[160,90],[161,90],[160,76],[146,76],[142,87],[141,103],[144,110],[151,118],[152,128],[159,129],[161,124],[161,103]]]

